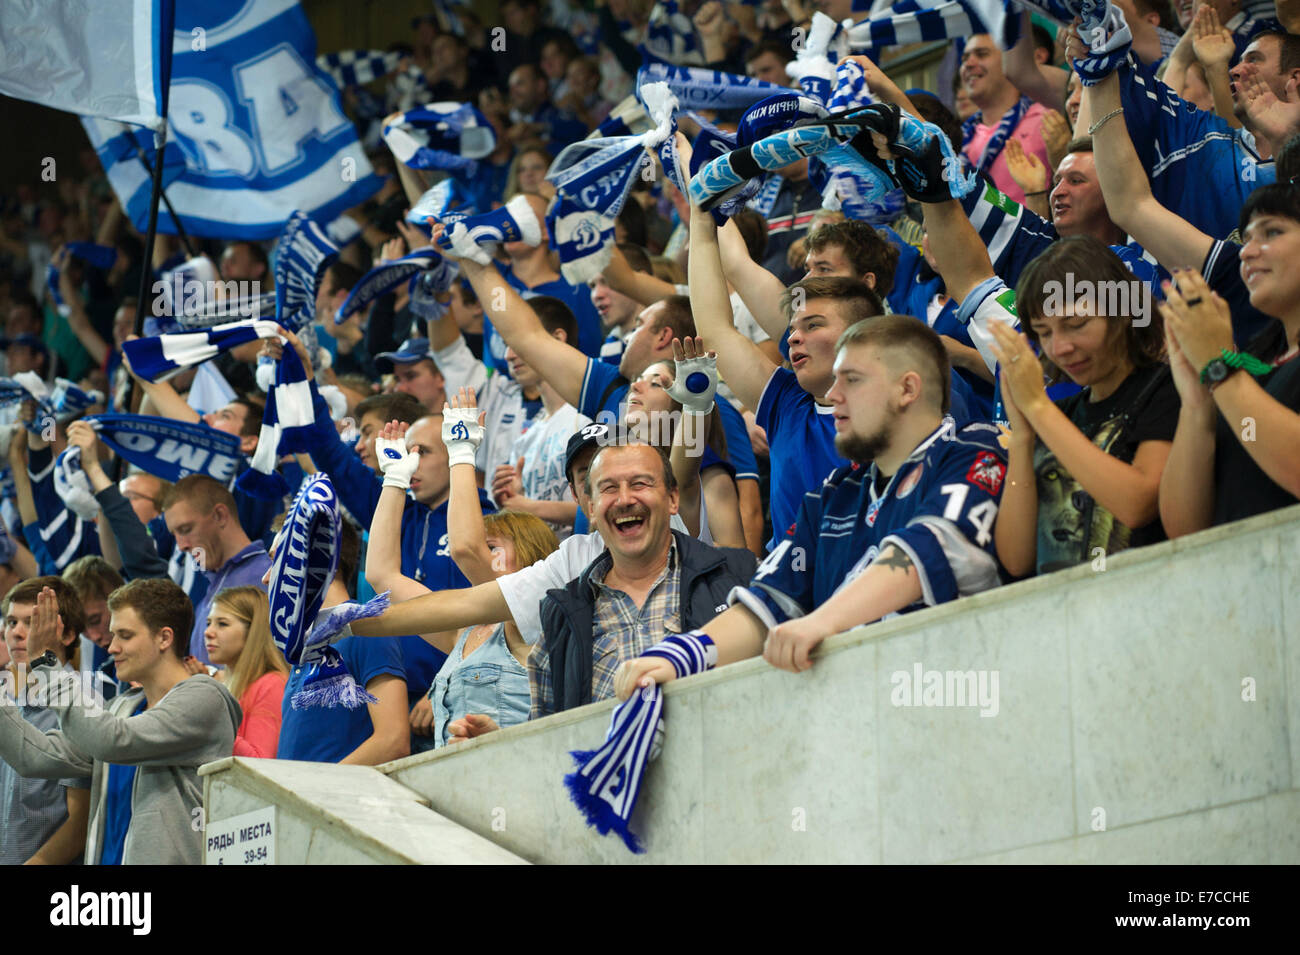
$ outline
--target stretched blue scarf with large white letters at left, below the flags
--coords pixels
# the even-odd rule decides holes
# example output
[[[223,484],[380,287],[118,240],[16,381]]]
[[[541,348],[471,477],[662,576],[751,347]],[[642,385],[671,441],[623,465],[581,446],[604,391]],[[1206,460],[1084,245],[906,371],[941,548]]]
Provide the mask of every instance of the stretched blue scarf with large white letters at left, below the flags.
[[[173,483],[207,474],[229,485],[243,457],[237,435],[203,424],[118,413],[92,414],[86,421],[122,460]]]

